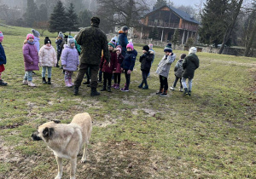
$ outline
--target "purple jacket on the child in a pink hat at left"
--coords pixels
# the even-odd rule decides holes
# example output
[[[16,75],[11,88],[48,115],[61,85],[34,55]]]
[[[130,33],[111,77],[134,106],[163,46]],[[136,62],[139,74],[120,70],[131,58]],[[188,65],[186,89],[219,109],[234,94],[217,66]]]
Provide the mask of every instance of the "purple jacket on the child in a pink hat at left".
[[[23,56],[25,71],[39,70],[38,49],[34,44],[25,43],[23,45]]]

